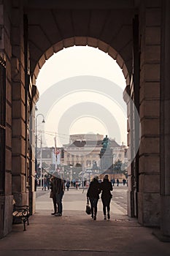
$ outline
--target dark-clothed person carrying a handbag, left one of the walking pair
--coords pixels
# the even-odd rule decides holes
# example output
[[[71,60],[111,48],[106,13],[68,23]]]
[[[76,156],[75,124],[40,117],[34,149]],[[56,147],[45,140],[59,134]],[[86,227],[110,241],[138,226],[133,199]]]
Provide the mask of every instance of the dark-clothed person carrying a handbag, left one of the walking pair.
[[[101,192],[101,184],[98,183],[98,176],[93,178],[93,181],[90,182],[88,188],[87,197],[89,197],[91,205],[91,217],[96,220],[97,215],[97,204],[99,199],[99,194]]]

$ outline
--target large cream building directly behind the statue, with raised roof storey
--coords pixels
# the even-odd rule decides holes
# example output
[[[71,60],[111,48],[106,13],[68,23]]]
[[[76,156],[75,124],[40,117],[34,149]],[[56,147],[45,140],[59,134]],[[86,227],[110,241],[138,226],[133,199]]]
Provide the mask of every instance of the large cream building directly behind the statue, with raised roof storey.
[[[70,142],[63,145],[64,157],[61,159],[63,165],[81,165],[87,168],[100,168],[99,154],[102,148],[104,135],[70,135]],[[113,151],[114,162],[120,159],[124,162],[125,146],[120,146],[115,140],[110,140]]]

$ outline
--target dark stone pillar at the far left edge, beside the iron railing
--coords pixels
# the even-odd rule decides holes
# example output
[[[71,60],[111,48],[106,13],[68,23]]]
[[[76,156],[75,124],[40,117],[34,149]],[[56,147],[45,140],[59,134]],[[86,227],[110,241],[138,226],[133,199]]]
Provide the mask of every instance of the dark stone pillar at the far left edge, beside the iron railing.
[[[1,77],[1,86],[6,88],[6,99],[4,99],[4,112],[5,112],[5,138],[4,138],[4,170],[0,170],[4,173],[3,183],[4,191],[1,191],[0,195],[0,238],[7,236],[12,230],[12,89],[11,89],[11,64],[10,59],[12,56],[10,45],[10,3],[4,1],[4,4],[0,4],[0,51],[1,59],[4,62],[3,78]],[[5,67],[6,64],[6,67]],[[2,75],[2,74],[1,74]],[[6,75],[6,77],[5,77]],[[3,80],[3,81],[2,81]],[[2,113],[1,113],[2,114]],[[1,177],[2,178],[2,177]]]

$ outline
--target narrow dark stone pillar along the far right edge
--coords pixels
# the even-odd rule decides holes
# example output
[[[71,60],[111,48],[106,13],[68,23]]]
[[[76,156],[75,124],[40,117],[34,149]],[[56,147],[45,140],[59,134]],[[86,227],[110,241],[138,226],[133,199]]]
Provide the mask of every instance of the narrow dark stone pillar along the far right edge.
[[[161,233],[170,236],[170,2],[163,1],[161,49]]]

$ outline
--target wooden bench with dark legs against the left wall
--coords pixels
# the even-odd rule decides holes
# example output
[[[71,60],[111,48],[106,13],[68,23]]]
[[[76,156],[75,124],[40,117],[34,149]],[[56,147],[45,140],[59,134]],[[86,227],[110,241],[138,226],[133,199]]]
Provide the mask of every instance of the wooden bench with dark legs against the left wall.
[[[12,224],[23,222],[23,231],[26,231],[26,222],[29,225],[28,218],[30,217],[29,206],[17,206],[13,200]]]

